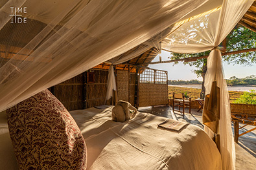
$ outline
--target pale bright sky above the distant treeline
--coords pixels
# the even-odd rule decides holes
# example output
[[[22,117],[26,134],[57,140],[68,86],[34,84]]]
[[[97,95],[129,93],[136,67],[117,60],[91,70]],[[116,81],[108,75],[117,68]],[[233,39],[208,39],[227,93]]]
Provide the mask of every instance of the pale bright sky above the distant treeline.
[[[163,51],[161,52],[162,61],[170,60],[168,59],[170,52]],[[159,61],[159,56],[157,56],[152,62]],[[179,62],[177,65],[173,63],[161,63],[156,65],[148,65],[151,69],[167,70],[168,71],[168,80],[200,80],[202,78],[197,78],[196,74],[192,72],[195,67],[189,65],[183,65],[182,62]],[[229,79],[231,76],[236,76],[237,78],[245,78],[246,76],[256,75],[256,64],[250,66],[243,65],[233,65],[223,63],[224,76],[226,79]]]

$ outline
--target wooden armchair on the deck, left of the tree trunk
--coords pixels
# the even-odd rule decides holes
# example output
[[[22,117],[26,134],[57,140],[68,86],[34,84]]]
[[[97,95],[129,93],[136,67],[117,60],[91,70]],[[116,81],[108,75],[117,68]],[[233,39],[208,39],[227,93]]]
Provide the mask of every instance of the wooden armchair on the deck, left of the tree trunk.
[[[175,107],[178,106],[179,110],[176,110]],[[182,107],[182,111],[180,110]],[[184,117],[185,108],[189,108],[189,113],[191,113],[191,98],[187,99],[184,96],[184,93],[173,93],[172,109],[174,111],[182,112]]]

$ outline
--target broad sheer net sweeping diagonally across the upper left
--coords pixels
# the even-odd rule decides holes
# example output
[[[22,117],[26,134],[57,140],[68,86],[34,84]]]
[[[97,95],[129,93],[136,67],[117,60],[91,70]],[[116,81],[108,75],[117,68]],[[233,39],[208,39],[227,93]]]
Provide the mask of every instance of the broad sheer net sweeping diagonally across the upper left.
[[[1,1],[0,111],[141,45],[207,1]],[[27,7],[19,13],[27,23],[11,23],[10,7]]]

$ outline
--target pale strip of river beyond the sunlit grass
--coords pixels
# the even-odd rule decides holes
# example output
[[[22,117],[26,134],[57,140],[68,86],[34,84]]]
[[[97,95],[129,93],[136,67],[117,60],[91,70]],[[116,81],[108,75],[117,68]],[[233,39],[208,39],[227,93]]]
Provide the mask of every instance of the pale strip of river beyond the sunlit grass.
[[[201,89],[202,85],[169,85],[172,87],[187,87],[194,89]],[[248,86],[227,86],[229,91],[241,91],[241,92],[249,92],[251,89],[256,90],[256,87],[248,87]]]

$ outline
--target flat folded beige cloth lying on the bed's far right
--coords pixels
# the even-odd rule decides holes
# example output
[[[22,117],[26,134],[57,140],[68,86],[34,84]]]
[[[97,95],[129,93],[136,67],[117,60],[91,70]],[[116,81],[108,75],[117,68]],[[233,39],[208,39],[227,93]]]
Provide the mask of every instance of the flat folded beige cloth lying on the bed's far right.
[[[183,127],[185,127],[185,125],[189,125],[189,123],[169,119],[165,120],[165,122],[163,123],[160,123],[158,127],[162,127],[164,129],[169,129],[173,131],[180,131]]]

